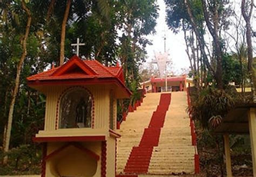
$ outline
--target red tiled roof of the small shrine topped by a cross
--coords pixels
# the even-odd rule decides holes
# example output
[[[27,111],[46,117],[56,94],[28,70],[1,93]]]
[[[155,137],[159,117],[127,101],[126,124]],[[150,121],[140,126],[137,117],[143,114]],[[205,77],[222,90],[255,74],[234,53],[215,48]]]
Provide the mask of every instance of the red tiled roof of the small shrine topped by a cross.
[[[26,78],[30,86],[60,85],[62,83],[101,84],[116,83],[131,94],[124,83],[123,70],[120,66],[106,67],[97,60],[81,60],[73,56],[64,65]]]

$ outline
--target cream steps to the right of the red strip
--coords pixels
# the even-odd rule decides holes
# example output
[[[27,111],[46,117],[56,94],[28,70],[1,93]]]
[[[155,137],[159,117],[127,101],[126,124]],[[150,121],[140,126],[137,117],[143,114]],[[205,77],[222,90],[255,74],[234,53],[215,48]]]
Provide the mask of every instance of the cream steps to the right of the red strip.
[[[154,147],[149,174],[194,173],[194,154],[190,119],[186,113],[186,92],[173,92],[159,145]]]

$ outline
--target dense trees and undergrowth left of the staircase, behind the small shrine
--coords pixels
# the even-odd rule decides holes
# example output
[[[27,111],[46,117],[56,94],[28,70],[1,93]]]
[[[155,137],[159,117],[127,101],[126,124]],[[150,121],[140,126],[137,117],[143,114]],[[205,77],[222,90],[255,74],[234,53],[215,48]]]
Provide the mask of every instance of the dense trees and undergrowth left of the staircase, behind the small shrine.
[[[40,173],[41,148],[31,138],[43,128],[45,97],[27,86],[26,77],[68,60],[79,38],[82,58],[122,64],[134,93],[131,101],[119,100],[124,112],[123,105],[139,97],[139,65],[157,10],[154,0],[0,2],[0,174]]]

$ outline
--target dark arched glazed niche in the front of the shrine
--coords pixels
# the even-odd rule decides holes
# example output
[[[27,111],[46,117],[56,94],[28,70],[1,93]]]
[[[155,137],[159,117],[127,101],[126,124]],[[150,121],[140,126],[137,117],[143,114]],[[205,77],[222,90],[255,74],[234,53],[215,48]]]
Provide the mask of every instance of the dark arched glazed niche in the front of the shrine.
[[[58,128],[92,127],[92,96],[83,87],[66,91],[59,101]]]

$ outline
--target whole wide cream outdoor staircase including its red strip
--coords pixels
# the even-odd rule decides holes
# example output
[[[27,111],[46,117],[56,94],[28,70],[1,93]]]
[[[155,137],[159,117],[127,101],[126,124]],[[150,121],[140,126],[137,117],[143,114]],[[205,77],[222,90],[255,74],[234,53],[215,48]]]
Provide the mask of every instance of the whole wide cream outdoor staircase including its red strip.
[[[195,147],[186,113],[186,92],[173,92],[169,108],[166,104],[159,105],[166,107],[163,110],[168,109],[165,119],[153,120],[159,100],[160,93],[146,94],[142,106],[129,113],[122,123],[119,130],[122,138],[117,142],[117,174],[194,174]],[[152,124],[151,117],[153,121],[163,122],[163,127]],[[147,131],[151,131],[151,135],[145,135]],[[152,136],[158,137],[158,142]],[[143,141],[151,141],[151,146],[142,146]]]

